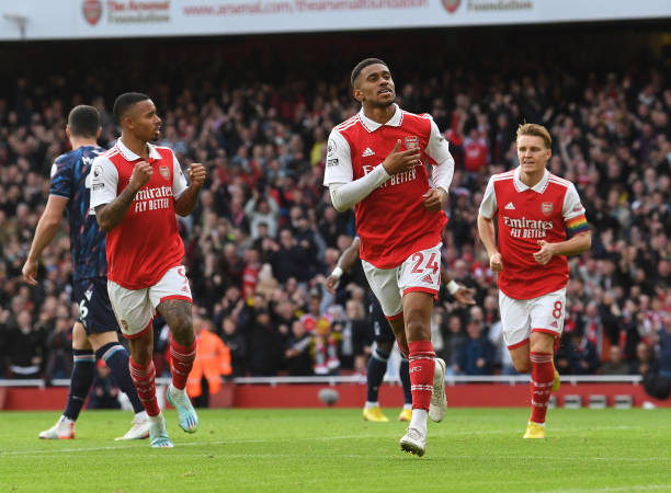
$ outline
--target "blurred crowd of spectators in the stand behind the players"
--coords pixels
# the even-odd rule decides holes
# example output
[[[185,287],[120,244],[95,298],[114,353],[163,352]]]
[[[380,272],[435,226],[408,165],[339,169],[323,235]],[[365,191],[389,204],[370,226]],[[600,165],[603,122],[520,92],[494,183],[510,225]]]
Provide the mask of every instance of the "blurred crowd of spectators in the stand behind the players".
[[[453,375],[514,372],[476,217],[488,177],[516,165],[523,121],[550,130],[549,169],[576,184],[593,232],[591,251],[569,262],[559,372],[671,375],[669,70],[662,62],[499,77],[459,67],[432,78],[397,77],[401,107],[431,113],[456,161],[443,264],[476,288],[477,305],[463,308],[441,293],[433,344]],[[276,84],[240,85],[147,77],[145,87],[130,89],[157,103],[159,144],[183,167],[208,169],[200,205],[179,223],[195,320],[226,343],[232,375],[364,371],[373,334],[361,268],[343,276],[336,296],[322,288],[355,236],[352,211],[338,214],[321,185],[329,131],[359,111],[346,77],[296,71]],[[70,107],[95,105],[101,144],[114,144],[114,94],[103,93],[102,79],[19,79],[0,95],[0,378],[69,377],[77,308],[66,231],[45,250],[37,287],[22,283],[21,267],[52,163],[68,150]],[[86,89],[73,90],[77,83]],[[157,369],[164,372],[168,330],[160,318],[155,331]]]

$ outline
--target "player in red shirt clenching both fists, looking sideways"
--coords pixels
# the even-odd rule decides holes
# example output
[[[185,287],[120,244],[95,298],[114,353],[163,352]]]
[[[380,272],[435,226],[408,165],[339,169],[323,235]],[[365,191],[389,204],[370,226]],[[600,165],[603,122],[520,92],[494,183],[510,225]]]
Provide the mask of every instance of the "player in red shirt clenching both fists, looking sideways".
[[[191,214],[206,173],[193,163],[187,186],[172,150],[149,144],[158,138],[161,119],[146,94],[120,95],[113,112],[122,136],[93,161],[91,208],[107,232],[107,291],[129,342],[130,376],[152,422],[151,446],[172,447],[156,400],[151,322],[158,311],[170,326],[172,382],[167,399],[178,411],[180,426],[194,433],[198,419],[184,387],[195,358],[195,334],[175,214]]]

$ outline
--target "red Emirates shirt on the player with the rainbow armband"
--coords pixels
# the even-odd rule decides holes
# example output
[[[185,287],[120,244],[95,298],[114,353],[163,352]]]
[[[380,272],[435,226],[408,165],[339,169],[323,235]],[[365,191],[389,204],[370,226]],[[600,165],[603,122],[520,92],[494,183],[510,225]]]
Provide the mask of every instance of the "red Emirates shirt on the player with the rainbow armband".
[[[494,174],[487,184],[480,215],[497,215],[499,251],[503,271],[499,289],[515,299],[537,298],[556,291],[568,282],[566,256],[554,256],[539,265],[533,254],[539,240],[556,243],[587,230],[584,208],[571,182],[545,171],[533,187],[520,180],[520,168]]]

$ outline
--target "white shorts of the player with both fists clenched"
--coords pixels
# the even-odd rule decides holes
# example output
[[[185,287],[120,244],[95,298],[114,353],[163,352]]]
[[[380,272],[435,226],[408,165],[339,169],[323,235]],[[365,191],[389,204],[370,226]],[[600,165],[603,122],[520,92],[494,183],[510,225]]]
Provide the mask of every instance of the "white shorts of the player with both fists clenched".
[[[151,287],[126,289],[107,280],[107,293],[122,333],[128,339],[138,336],[153,319],[156,307],[167,299],[193,302],[191,287],[183,265],[170,268]]]

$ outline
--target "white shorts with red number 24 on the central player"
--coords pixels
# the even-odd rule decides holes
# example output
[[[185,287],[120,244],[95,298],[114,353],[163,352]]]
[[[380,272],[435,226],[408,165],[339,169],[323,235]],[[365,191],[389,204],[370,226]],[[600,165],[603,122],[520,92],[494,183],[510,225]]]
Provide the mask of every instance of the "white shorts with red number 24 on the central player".
[[[385,317],[394,318],[403,311],[403,295],[412,291],[437,296],[441,287],[441,246],[411,254],[397,267],[377,268],[362,259],[366,279],[379,301]]]

